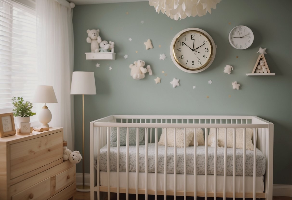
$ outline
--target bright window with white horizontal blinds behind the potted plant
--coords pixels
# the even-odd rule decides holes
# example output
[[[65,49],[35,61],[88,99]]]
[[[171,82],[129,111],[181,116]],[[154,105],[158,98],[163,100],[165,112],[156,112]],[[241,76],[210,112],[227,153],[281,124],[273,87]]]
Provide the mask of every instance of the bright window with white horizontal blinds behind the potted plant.
[[[0,13],[0,110],[3,113],[12,112],[12,96],[32,101],[38,78],[35,10],[15,1],[0,0]]]

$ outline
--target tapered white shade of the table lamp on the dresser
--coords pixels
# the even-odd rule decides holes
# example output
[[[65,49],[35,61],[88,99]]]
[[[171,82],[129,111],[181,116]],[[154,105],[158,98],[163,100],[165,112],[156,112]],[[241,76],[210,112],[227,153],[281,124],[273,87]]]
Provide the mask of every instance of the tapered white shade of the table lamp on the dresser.
[[[53,86],[38,85],[34,93],[33,103],[58,103]]]

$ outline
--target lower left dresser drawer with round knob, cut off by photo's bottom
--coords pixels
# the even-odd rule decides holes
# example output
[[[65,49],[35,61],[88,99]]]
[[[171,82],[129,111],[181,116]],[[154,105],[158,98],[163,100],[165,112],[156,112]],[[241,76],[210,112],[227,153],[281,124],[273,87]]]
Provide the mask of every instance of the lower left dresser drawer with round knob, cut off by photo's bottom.
[[[11,197],[11,200],[34,199],[46,200],[51,196],[51,178],[47,178],[35,185],[18,192]]]

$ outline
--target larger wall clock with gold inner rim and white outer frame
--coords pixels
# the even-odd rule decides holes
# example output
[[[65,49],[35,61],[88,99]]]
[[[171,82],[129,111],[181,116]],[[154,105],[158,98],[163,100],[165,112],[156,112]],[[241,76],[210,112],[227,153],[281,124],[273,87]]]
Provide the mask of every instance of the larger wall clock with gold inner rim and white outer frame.
[[[215,58],[216,48],[212,37],[204,30],[188,28],[176,34],[171,41],[173,63],[188,73],[207,69]]]

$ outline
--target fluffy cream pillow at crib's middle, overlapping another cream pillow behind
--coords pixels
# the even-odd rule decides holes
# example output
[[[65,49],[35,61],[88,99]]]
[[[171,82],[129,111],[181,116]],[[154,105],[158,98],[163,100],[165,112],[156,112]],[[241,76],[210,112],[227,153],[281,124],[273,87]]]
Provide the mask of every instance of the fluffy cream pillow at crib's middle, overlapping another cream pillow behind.
[[[187,129],[187,141],[186,146],[190,145],[192,138],[194,137],[194,130]],[[176,146],[177,147],[184,147],[184,129],[176,129]],[[158,145],[165,145],[165,128],[162,129],[162,133],[158,142]],[[167,129],[167,146],[174,147],[174,129],[168,128]]]

